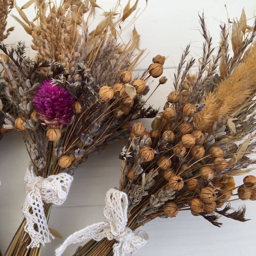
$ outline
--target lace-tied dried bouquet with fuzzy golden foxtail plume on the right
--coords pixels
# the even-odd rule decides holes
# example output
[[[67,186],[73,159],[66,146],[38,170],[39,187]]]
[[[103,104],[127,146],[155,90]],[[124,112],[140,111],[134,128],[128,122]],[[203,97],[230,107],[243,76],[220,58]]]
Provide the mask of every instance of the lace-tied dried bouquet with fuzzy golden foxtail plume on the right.
[[[255,176],[245,176],[241,185],[234,180],[235,175],[252,171],[249,167],[255,164],[250,156],[256,130],[256,26],[246,24],[243,10],[240,20],[230,21],[230,27],[220,26],[220,47],[213,55],[204,16],[200,25],[205,42],[199,69],[190,73],[195,59],[186,62],[188,45],[174,74],[175,90],[152,122],[152,130],[146,131],[141,122],[132,126],[120,154],[120,190],[107,193],[107,220],[70,235],[56,249],[57,256],[69,244],[88,238],[93,240],[74,256],[123,256],[147,240],[132,231],[156,217],[175,217],[185,210],[217,227],[222,225],[220,216],[247,221],[245,205],[235,210],[230,202],[256,200]],[[110,214],[108,204],[113,208]],[[114,215],[124,223],[118,224]]]

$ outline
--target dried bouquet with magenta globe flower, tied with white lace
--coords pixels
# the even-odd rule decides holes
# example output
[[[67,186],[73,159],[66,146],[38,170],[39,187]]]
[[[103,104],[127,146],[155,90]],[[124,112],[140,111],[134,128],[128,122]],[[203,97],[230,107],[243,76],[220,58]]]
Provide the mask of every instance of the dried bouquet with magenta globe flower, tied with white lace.
[[[21,132],[31,160],[25,176],[25,218],[4,254],[9,256],[40,255],[41,245],[52,237],[47,227],[52,203],[65,201],[77,164],[126,137],[130,121],[156,116],[158,110],[144,107],[147,100],[142,96],[149,90],[147,79],[162,75],[165,59],[156,56],[148,70],[136,76],[132,71],[144,53],[133,53],[139,35],[134,29],[133,40],[117,41],[117,28],[138,1],[121,13],[118,4],[104,12],[106,17],[93,31],[88,24],[100,6],[92,0],[66,0],[59,7],[39,1],[36,19],[30,22],[23,9],[33,2],[22,8],[14,5],[26,23],[15,19],[33,37],[35,60],[26,56],[22,42],[15,47],[0,43],[8,81],[4,94],[14,111],[2,110],[3,127]],[[159,84],[166,80],[160,78]]]

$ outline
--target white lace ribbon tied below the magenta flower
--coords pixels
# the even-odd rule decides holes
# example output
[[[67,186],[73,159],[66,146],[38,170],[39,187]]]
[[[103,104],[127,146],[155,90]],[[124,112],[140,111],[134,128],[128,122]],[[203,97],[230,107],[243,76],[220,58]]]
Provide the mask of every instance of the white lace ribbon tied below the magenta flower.
[[[63,204],[72,180],[73,177],[67,173],[50,175],[44,179],[35,175],[33,166],[27,169],[24,178],[26,199],[22,207],[27,220],[24,230],[31,238],[27,248],[39,247],[40,244],[51,242],[50,237],[54,238],[47,226],[43,201],[47,204]]]

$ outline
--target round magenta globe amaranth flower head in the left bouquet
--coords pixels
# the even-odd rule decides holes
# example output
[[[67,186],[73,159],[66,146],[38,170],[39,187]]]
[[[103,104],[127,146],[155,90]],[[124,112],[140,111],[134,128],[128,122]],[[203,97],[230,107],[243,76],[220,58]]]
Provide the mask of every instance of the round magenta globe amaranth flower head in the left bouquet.
[[[53,84],[53,81],[45,80],[39,85],[33,96],[33,102],[38,117],[44,121],[44,125],[58,126],[70,123],[70,118],[73,116],[74,97]]]

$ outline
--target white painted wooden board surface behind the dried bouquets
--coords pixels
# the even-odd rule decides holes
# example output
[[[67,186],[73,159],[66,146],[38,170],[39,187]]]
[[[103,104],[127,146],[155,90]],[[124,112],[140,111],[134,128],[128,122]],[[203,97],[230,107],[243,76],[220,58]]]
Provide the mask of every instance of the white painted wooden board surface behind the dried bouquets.
[[[26,1],[17,0],[22,6]],[[124,6],[127,1],[121,1]],[[135,1],[131,1],[132,3]],[[115,0],[97,1],[106,11],[114,6]],[[145,7],[146,1],[140,1],[139,12]],[[165,62],[164,76],[169,81],[161,86],[149,103],[155,107],[163,107],[167,94],[172,90],[172,77],[181,56],[181,50],[191,42],[191,55],[200,57],[202,36],[198,31],[198,12],[206,17],[207,28],[212,35],[213,42],[219,42],[219,23],[227,21],[224,7],[227,4],[229,17],[240,17],[245,7],[247,18],[252,18],[256,3],[247,1],[148,1],[146,10],[136,21],[136,29],[141,35],[141,48],[147,48],[148,55],[140,63],[139,69],[145,69],[156,54],[169,56]],[[138,8],[139,9],[139,8]],[[34,16],[33,8],[27,10],[30,17]],[[100,12],[100,11],[99,11]],[[15,13],[15,11],[13,11]],[[251,20],[252,22],[252,20]],[[13,43],[25,40],[29,46],[30,36],[24,33],[21,26],[10,17],[8,26],[15,26],[15,30],[6,40]],[[129,38],[127,32],[124,38]],[[150,52],[149,52],[150,51]],[[28,54],[33,51],[28,49]],[[151,91],[156,84],[151,84]],[[150,127],[150,120],[145,123]],[[123,148],[123,141],[108,146],[106,152],[91,155],[87,162],[79,165],[72,183],[68,199],[61,206],[53,206],[49,227],[67,237],[71,233],[95,222],[102,221],[105,194],[109,188],[118,186],[121,161],[118,155]],[[25,192],[23,177],[29,157],[18,132],[12,132],[0,140],[0,248],[5,252],[16,229],[23,218],[21,207]],[[255,173],[254,173],[255,174]],[[240,184],[243,177],[236,179]],[[233,202],[238,207],[243,202]],[[195,217],[190,212],[180,212],[176,218],[155,219],[140,229],[145,230],[150,239],[148,245],[136,253],[138,256],[244,256],[255,255],[256,252],[256,203],[246,201],[246,218],[252,219],[245,223],[222,217],[222,228],[212,226],[202,217]],[[62,242],[56,238],[42,249],[42,256],[54,255],[54,248]],[[77,246],[68,247],[64,256],[71,256]]]

